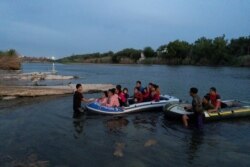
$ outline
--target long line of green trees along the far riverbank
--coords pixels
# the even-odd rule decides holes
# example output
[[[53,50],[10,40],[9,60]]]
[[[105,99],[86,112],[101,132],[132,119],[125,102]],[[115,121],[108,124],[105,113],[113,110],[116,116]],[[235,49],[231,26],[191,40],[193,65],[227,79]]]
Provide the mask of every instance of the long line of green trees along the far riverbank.
[[[141,55],[145,59],[141,59]],[[154,50],[123,49],[116,53],[78,54],[59,59],[61,63],[145,63],[169,65],[250,66],[250,36],[227,40],[201,37],[194,43],[175,40]]]

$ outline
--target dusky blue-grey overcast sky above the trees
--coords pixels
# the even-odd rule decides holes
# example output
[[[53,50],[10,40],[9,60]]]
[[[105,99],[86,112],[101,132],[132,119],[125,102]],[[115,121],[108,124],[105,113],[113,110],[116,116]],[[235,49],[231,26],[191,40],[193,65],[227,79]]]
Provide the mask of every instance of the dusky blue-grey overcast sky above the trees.
[[[1,0],[0,50],[27,56],[154,49],[250,35],[250,0]]]

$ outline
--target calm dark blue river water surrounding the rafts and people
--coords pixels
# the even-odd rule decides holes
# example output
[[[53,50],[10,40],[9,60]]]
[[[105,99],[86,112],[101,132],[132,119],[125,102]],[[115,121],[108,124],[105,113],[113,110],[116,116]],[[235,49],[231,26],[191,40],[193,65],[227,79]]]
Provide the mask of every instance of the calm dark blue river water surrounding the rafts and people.
[[[23,71],[48,67],[25,64]],[[215,86],[223,99],[250,101],[249,68],[56,67],[61,74],[80,77],[72,82],[122,84],[131,90],[138,79],[153,81],[162,92],[189,101],[190,86],[197,86],[200,95]],[[249,118],[209,123],[198,132],[166,120],[158,111],[72,118],[71,95],[1,101],[0,107],[0,166],[250,166]]]

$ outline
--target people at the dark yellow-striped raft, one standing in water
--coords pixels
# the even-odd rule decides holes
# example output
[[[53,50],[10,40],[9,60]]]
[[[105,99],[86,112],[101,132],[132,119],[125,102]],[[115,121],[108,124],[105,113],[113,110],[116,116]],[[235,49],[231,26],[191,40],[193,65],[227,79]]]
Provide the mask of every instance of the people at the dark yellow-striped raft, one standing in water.
[[[196,126],[200,128],[203,126],[203,111],[206,110],[209,113],[218,112],[222,104],[221,97],[217,93],[215,87],[211,87],[209,93],[206,94],[203,99],[199,97],[197,88],[190,88],[189,94],[193,98],[192,106],[185,107],[185,110],[193,111],[194,115],[192,116],[192,118],[190,118],[188,115],[183,115],[182,121],[184,126],[188,127],[188,120],[194,119]]]

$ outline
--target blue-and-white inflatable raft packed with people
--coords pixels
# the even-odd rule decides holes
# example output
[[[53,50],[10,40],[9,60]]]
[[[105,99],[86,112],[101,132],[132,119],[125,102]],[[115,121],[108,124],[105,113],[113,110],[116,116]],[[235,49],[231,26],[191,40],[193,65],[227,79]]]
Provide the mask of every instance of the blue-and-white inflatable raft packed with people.
[[[179,99],[169,95],[161,95],[160,101],[154,102],[142,102],[131,104],[128,107],[107,107],[102,106],[98,102],[93,102],[86,105],[86,109],[88,112],[97,113],[97,114],[125,114],[125,113],[133,113],[133,112],[140,112],[146,110],[163,110],[166,104],[170,103],[178,103]]]

